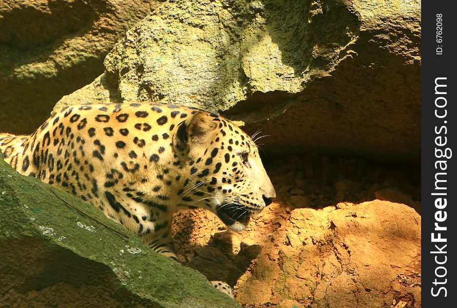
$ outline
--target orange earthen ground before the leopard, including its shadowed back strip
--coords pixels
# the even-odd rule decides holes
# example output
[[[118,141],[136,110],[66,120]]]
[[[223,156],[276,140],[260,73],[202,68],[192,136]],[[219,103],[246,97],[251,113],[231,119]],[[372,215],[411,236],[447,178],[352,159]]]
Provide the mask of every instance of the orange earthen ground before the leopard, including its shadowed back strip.
[[[318,157],[266,168],[277,200],[243,232],[205,210],[177,214],[188,266],[235,285],[245,307],[421,307],[418,168]]]

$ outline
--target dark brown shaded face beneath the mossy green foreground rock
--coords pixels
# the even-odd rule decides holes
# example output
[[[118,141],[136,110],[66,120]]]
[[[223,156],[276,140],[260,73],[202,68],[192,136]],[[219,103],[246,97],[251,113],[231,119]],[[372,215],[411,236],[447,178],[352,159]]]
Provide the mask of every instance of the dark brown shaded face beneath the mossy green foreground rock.
[[[15,265],[0,264],[0,307],[161,306],[131,294],[108,266],[62,247],[52,250],[36,237],[0,242],[0,255],[3,264]]]

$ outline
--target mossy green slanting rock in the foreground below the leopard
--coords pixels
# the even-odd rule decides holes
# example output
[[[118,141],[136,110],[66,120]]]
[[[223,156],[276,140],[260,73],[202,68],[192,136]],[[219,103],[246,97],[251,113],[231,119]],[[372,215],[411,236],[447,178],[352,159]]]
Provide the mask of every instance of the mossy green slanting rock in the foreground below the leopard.
[[[0,157],[0,307],[238,307],[97,208]]]

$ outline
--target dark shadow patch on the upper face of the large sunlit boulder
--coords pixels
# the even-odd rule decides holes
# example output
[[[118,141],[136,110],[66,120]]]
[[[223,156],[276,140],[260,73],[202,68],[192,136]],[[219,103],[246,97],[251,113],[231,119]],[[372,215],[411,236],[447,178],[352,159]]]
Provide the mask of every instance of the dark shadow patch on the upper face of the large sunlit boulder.
[[[335,49],[359,32],[357,16],[337,1],[263,3],[272,42],[281,50],[282,63],[293,67],[296,76],[328,70],[340,57]]]

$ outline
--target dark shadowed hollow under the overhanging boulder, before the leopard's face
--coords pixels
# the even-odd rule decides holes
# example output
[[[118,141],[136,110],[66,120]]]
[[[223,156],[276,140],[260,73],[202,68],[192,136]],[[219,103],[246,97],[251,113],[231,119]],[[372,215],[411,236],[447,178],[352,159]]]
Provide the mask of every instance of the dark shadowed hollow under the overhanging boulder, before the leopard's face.
[[[277,202],[295,208],[322,208],[339,202],[375,199],[404,203],[421,214],[421,168],[317,155],[265,161]]]

